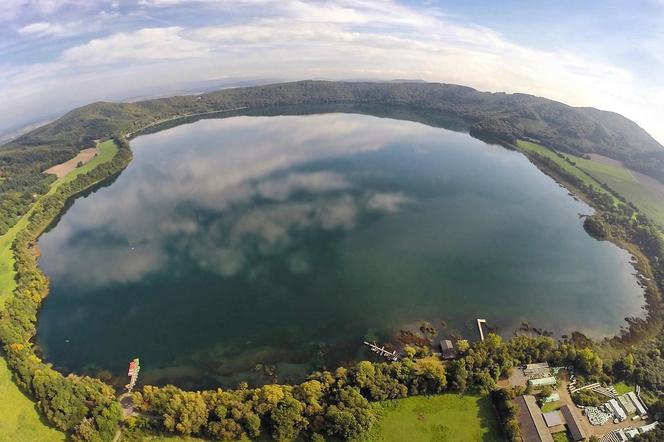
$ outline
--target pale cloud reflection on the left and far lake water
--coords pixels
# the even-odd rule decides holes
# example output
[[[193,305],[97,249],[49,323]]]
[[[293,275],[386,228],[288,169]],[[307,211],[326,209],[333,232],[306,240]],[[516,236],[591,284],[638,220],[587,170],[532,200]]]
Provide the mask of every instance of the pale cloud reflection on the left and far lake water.
[[[67,250],[57,262],[49,260],[47,273],[72,288],[100,288],[139,281],[184,251],[206,271],[234,276],[251,260],[293,246],[302,232],[350,230],[367,213],[393,213],[411,201],[305,166],[435,129],[357,115],[309,118],[315,124],[288,117],[207,120],[134,140],[127,179],[90,204],[75,205],[45,238]],[[366,130],[368,124],[374,130]],[[196,136],[218,136],[220,128],[214,145]],[[100,235],[112,238],[102,251]],[[169,247],[181,250],[173,254]],[[306,272],[305,260],[293,258],[289,268]]]

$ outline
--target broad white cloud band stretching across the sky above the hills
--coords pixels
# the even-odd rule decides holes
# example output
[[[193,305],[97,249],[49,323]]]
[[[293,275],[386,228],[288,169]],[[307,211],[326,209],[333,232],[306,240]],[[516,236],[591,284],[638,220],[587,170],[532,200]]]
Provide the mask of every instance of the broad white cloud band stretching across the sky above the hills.
[[[627,69],[574,53],[519,45],[493,29],[458,23],[438,10],[378,0],[145,0],[142,4],[149,11],[201,2],[209,14],[239,15],[219,26],[119,32],[67,49],[52,63],[0,66],[6,80],[0,95],[14,109],[3,115],[0,128],[34,116],[44,100],[56,108],[62,103],[59,108],[65,110],[220,76],[419,78],[613,110],[664,140],[659,121],[664,114],[661,84],[647,84]],[[33,23],[24,29],[26,35],[29,26],[34,32],[47,29]]]

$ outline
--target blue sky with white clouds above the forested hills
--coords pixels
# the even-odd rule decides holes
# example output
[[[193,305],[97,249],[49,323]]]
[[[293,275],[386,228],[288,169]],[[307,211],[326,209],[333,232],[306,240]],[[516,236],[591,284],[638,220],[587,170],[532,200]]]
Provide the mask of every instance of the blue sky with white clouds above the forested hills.
[[[531,93],[664,143],[664,0],[0,1],[0,134],[93,101],[302,79]]]

